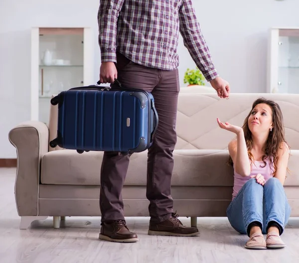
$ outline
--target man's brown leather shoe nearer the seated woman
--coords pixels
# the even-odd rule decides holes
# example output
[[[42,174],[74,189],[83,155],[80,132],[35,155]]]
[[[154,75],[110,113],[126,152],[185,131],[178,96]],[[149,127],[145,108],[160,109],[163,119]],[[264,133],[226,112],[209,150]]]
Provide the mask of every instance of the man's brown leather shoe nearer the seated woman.
[[[163,222],[149,221],[149,232],[151,236],[177,236],[177,237],[193,237],[199,234],[196,227],[185,227],[177,219],[176,213]]]

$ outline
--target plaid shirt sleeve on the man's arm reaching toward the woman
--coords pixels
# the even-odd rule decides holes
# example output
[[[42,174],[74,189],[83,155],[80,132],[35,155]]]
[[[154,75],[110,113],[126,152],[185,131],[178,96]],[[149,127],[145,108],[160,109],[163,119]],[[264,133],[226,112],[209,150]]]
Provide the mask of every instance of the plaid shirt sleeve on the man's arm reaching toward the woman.
[[[192,0],[183,0],[179,9],[180,33],[184,45],[207,81],[218,76],[207,43],[197,21]]]

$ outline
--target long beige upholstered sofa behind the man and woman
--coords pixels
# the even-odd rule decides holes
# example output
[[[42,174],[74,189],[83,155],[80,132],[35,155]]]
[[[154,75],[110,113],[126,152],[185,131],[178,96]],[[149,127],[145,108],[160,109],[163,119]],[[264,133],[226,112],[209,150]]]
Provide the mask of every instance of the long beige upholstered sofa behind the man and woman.
[[[191,90],[193,89],[193,90]],[[252,102],[260,96],[277,101],[284,114],[286,138],[291,146],[285,190],[292,216],[299,216],[299,94],[231,94],[220,99],[200,88],[181,88],[177,112],[177,145],[173,153],[171,194],[181,217],[225,217],[232,197],[233,170],[226,164],[227,144],[234,137],[218,127],[216,118],[242,125]],[[49,149],[56,136],[57,108],[52,106],[48,127],[28,121],[9,132],[17,152],[15,201],[20,229],[34,220],[53,217],[59,228],[65,216],[101,216],[99,209],[102,152],[78,154]],[[126,217],[149,216],[146,198],[147,151],[133,154],[123,199]]]

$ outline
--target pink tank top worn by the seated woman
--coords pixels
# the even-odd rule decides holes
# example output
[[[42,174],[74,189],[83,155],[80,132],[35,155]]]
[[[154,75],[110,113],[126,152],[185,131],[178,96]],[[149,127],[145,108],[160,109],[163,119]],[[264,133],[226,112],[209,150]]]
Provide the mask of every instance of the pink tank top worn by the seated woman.
[[[264,176],[265,180],[267,181],[269,178],[273,177],[272,170],[270,166],[272,166],[272,158],[266,159],[266,166],[263,161],[254,161],[251,166],[251,173],[250,176],[241,176],[239,175],[234,169],[234,188],[233,188],[233,199],[237,196],[238,192],[241,190],[243,185],[250,180],[251,176],[261,174]],[[262,167],[260,167],[262,166]],[[265,167],[264,167],[265,166]]]

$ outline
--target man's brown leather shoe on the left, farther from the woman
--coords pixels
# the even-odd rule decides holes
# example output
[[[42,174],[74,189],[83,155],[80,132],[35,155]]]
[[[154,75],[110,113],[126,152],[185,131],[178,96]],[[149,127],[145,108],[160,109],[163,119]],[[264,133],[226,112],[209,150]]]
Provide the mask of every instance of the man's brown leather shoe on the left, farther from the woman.
[[[121,243],[131,243],[138,241],[137,235],[129,231],[125,220],[102,223],[99,239]]]

